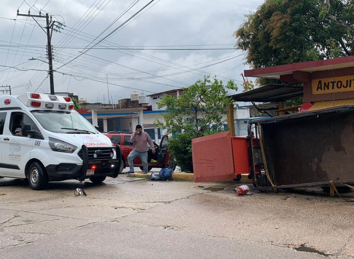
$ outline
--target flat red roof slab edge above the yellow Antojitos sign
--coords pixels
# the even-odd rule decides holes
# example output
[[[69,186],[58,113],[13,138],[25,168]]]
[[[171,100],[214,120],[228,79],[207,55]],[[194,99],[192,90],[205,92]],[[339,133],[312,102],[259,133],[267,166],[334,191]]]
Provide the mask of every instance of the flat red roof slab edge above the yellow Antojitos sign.
[[[245,76],[280,79],[281,75],[292,74],[293,71],[314,72],[337,68],[354,67],[354,56],[331,58],[319,61],[293,63],[274,67],[244,70]]]

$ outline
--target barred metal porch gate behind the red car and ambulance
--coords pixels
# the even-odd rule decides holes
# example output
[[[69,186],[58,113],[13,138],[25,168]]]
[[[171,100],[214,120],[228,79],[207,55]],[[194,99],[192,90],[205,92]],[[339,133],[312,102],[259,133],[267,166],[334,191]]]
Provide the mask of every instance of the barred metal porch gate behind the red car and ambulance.
[[[137,115],[109,117],[98,119],[98,127],[100,132],[121,131],[133,132],[139,123]]]

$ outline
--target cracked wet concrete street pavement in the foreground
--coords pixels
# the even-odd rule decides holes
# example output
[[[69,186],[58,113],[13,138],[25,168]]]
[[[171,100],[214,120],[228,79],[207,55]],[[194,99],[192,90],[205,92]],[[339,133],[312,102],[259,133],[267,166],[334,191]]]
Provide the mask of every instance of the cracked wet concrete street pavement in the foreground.
[[[119,175],[33,191],[0,179],[1,258],[354,258],[354,203],[316,188],[236,196],[238,185]]]

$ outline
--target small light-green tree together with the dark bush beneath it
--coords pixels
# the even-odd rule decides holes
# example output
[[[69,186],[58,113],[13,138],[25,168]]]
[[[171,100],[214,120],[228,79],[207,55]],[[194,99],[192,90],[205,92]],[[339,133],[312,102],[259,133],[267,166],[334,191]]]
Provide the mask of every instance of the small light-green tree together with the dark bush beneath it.
[[[224,87],[216,77],[205,76],[204,80],[183,89],[178,98],[165,94],[158,102],[159,109],[167,107],[169,112],[163,114],[164,121],[156,120],[156,125],[167,129],[167,133],[184,131],[169,140],[171,159],[182,171],[193,172],[192,139],[199,136],[199,127],[204,129],[204,134],[224,131],[226,105],[233,103],[227,97],[227,89],[238,87],[232,80]]]

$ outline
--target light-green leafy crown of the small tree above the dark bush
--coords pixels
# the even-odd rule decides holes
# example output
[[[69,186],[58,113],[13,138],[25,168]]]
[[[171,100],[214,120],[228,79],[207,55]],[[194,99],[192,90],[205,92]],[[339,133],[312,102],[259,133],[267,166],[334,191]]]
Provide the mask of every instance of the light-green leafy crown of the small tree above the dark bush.
[[[155,121],[158,127],[167,129],[167,133],[183,130],[197,136],[199,127],[208,132],[223,131],[223,115],[227,113],[226,105],[232,104],[226,97],[227,89],[237,90],[232,80],[224,87],[223,82],[216,77],[205,76],[194,85],[183,89],[178,98],[165,94],[158,102],[158,108],[167,107],[164,122]],[[212,127],[211,127],[212,125]]]

